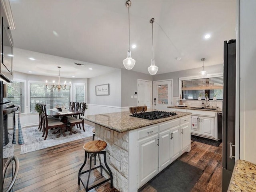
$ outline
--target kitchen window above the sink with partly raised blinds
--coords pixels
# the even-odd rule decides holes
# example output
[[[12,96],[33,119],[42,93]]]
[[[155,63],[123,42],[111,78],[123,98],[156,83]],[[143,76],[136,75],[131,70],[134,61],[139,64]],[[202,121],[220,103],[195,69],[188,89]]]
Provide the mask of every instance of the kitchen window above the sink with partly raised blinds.
[[[223,77],[181,80],[181,91],[183,99],[198,99],[198,96],[204,99],[207,93],[209,99],[216,96],[217,100],[222,100]]]

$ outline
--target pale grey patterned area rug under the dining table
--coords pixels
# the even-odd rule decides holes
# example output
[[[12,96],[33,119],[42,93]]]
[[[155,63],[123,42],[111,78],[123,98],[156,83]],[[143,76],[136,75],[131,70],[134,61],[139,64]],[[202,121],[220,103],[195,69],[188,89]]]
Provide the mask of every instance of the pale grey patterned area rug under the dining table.
[[[52,134],[56,130],[49,130],[46,140],[42,137],[43,133],[38,130],[38,127],[22,129],[25,144],[21,146],[20,154],[92,136],[94,127],[84,124],[84,129],[85,132],[80,130],[80,128],[73,127],[72,130],[76,131],[76,134],[69,135],[69,132],[66,132],[66,137],[61,134],[59,138],[56,138],[56,134]]]

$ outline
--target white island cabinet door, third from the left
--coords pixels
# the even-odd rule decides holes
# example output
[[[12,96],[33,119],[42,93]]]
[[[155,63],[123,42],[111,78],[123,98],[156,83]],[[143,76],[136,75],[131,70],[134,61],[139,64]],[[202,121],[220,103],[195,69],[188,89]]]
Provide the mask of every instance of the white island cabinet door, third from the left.
[[[170,144],[171,162],[180,156],[180,126],[171,128],[171,144]]]

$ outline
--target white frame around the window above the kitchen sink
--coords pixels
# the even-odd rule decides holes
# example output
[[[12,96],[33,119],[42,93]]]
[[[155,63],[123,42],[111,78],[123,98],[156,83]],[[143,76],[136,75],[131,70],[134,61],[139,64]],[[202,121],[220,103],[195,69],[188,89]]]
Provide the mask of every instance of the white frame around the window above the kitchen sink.
[[[195,79],[205,79],[205,78],[214,78],[214,77],[223,77],[223,73],[208,74],[205,77],[202,77],[202,76],[199,76],[199,75],[197,75],[197,76],[188,76],[188,77],[180,77],[179,78],[179,97],[182,96],[182,98],[183,98],[183,94],[182,94],[182,90],[181,90],[183,80],[195,80]],[[208,89],[206,89],[205,92],[208,93],[208,95],[210,94],[210,90],[208,90]],[[197,99],[186,99],[186,100],[197,100]],[[212,100],[212,99],[210,99],[210,100]],[[218,101],[222,101],[222,100],[218,99]]]

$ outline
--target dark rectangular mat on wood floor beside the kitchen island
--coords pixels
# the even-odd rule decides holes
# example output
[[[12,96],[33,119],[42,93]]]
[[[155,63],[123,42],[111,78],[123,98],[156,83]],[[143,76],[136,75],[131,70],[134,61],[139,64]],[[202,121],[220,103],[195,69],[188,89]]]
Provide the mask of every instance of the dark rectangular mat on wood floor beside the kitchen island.
[[[190,192],[204,171],[176,160],[148,182],[158,192]]]

